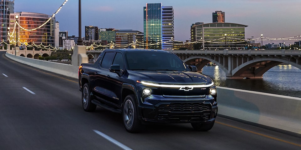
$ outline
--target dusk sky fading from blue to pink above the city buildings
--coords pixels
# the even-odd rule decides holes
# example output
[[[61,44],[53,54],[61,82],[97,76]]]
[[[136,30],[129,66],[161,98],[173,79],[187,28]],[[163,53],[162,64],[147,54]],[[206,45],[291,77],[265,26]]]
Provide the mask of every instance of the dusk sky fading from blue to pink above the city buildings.
[[[52,15],[63,2],[15,0],[14,11]],[[301,0],[82,0],[82,36],[84,27],[89,25],[143,32],[146,3],[173,7],[177,41],[189,40],[192,23],[212,23],[212,12],[217,10],[225,12],[225,22],[247,25],[246,38],[261,37],[261,34],[271,38],[301,35]],[[60,23],[60,31],[78,36],[78,0],[68,0],[55,19]],[[288,45],[296,41],[268,40],[263,44],[285,42]]]

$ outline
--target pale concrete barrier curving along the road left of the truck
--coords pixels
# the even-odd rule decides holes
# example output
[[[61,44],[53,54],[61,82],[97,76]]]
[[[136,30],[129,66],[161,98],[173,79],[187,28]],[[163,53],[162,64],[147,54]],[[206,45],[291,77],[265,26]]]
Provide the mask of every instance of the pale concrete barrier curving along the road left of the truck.
[[[10,59],[13,59],[17,62],[27,64],[29,66],[33,66],[36,68],[40,68],[49,72],[61,74],[67,77],[72,78],[78,78],[78,66],[72,66],[69,64],[63,64],[63,63],[55,63],[55,62],[49,62],[44,60],[38,60],[33,58],[26,58],[21,56],[15,56],[10,53],[6,53],[5,56],[7,56]]]

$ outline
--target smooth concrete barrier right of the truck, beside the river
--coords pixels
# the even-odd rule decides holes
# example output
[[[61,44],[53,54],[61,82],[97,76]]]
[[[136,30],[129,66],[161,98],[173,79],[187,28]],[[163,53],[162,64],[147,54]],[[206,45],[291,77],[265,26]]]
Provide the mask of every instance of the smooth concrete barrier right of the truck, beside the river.
[[[218,114],[301,134],[301,98],[217,88]]]

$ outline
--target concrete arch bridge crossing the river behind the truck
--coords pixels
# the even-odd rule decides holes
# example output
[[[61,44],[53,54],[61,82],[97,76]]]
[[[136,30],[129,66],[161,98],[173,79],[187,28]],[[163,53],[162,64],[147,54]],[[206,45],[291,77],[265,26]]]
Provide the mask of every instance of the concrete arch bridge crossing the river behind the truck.
[[[227,78],[262,78],[263,74],[279,64],[291,64],[301,69],[301,50],[169,50],[198,72],[209,62],[218,65]],[[87,51],[89,60],[102,51]],[[91,61],[90,61],[91,62]]]

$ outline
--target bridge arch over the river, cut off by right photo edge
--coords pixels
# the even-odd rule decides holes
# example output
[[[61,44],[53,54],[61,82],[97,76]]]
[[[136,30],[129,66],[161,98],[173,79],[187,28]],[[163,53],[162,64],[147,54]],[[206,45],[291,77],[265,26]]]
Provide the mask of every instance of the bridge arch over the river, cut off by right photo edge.
[[[281,63],[301,69],[301,65],[280,58],[257,58],[234,68],[231,78],[262,78],[264,73]]]

